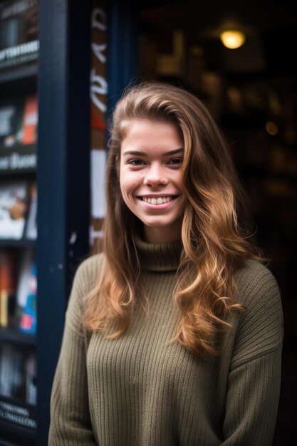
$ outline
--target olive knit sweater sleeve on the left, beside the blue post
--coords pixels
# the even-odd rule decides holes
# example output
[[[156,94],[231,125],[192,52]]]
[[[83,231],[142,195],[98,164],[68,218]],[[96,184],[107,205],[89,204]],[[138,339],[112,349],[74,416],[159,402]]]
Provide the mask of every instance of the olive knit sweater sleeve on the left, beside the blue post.
[[[83,298],[90,291],[95,279],[95,264],[98,265],[95,260],[90,257],[83,261],[73,280],[61,351],[51,390],[48,446],[97,444],[88,405],[87,347],[81,323]]]

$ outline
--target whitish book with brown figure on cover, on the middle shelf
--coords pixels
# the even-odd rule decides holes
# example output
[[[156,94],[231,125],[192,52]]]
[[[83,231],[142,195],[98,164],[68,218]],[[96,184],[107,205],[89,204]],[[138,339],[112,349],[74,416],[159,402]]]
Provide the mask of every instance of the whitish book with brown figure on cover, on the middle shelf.
[[[28,213],[28,182],[0,183],[0,239],[19,240],[24,235]]]

